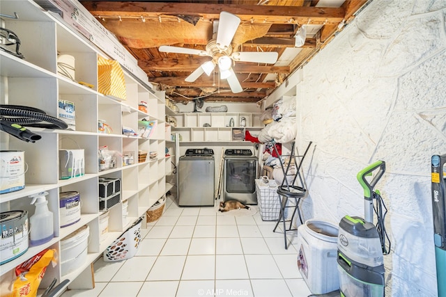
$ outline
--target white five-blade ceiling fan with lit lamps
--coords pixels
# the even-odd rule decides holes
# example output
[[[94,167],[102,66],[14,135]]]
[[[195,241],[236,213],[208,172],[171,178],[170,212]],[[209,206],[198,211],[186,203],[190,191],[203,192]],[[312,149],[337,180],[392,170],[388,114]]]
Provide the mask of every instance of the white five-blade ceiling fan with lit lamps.
[[[198,67],[196,70],[194,70],[194,72],[186,77],[185,81],[196,81],[203,73],[206,73],[209,76],[215,69],[215,65],[218,65],[220,69],[220,79],[226,79],[226,81],[228,81],[229,87],[233,93],[240,93],[243,91],[243,88],[236,77],[236,73],[232,69],[233,64],[236,61],[274,64],[277,61],[278,54],[275,51],[233,52],[231,41],[236,34],[239,24],[239,17],[233,15],[232,13],[222,11],[222,13],[220,13],[217,37],[208,42],[208,45],[206,45],[206,51],[189,49],[186,47],[171,47],[169,45],[161,46],[159,51],[212,57],[213,59],[211,61],[203,63],[203,65]]]

